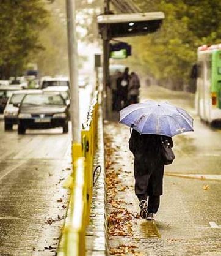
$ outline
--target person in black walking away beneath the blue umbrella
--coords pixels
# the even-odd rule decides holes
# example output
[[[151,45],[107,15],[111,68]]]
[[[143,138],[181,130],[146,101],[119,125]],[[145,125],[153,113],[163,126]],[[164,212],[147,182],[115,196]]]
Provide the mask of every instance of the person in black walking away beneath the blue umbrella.
[[[129,149],[134,154],[135,194],[140,203],[140,217],[154,220],[158,211],[164,176],[162,140],[173,147],[171,137],[155,134],[139,134],[132,130]],[[148,202],[147,202],[147,197]]]

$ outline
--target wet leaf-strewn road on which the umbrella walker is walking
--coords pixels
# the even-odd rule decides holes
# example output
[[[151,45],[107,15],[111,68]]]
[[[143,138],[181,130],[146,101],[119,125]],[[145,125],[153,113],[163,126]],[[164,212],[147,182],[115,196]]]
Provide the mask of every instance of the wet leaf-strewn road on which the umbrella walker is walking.
[[[118,216],[123,224],[121,230],[126,230],[127,235],[116,236],[112,229],[114,227],[110,225],[111,252],[113,255],[125,252],[127,247],[125,255],[221,255],[220,130],[203,124],[195,116],[194,97],[190,94],[152,86],[143,88],[141,96],[142,100],[169,100],[186,108],[194,116],[195,132],[173,139],[176,159],[174,164],[165,168],[164,195],[156,222],[134,218],[124,220]],[[107,175],[110,177],[110,220],[116,217],[116,213],[127,216],[124,208],[135,216],[139,208],[133,190],[132,154],[128,150],[129,129],[110,122],[105,132],[106,142],[114,148],[109,154],[110,173]],[[112,176],[117,179],[117,189],[114,186],[111,190]],[[131,249],[131,245],[137,247]]]

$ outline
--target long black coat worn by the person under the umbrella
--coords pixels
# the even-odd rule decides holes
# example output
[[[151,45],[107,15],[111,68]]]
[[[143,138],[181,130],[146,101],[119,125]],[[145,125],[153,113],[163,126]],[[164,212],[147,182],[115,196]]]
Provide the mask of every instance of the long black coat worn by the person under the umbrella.
[[[168,140],[171,137],[155,134],[139,134],[132,130],[129,139],[129,149],[134,154],[134,177],[136,195],[162,195],[162,179],[164,162],[161,157],[161,137]]]

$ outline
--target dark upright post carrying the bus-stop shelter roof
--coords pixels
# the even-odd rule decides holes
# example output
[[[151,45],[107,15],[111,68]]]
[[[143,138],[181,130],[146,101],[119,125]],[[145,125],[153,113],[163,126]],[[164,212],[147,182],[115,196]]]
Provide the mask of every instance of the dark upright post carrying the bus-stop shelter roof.
[[[110,13],[110,0],[104,0],[104,14]],[[109,118],[109,106],[107,102],[107,85],[109,83],[109,53],[110,39],[108,36],[108,26],[106,26],[103,37],[103,102],[104,119]]]

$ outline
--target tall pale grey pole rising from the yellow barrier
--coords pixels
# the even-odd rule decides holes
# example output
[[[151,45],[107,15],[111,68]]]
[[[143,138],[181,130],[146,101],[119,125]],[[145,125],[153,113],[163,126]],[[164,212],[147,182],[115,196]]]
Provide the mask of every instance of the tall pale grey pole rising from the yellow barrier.
[[[76,9],[75,0],[66,0],[67,32],[68,32],[68,62],[71,91],[71,124],[72,142],[81,143],[80,118],[79,118],[79,88],[78,88],[78,62],[76,40]]]

